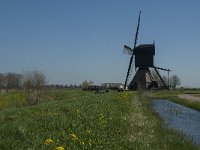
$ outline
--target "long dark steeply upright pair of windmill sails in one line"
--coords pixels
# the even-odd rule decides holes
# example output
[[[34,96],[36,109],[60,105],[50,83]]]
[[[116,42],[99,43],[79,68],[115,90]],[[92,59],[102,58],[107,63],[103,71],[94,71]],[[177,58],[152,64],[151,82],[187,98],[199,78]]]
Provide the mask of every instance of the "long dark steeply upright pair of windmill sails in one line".
[[[137,40],[138,40],[138,33],[139,33],[139,27],[140,27],[140,15],[141,15],[141,11],[140,11],[139,17],[138,17],[138,25],[137,25],[137,30],[136,30],[136,33],[135,33],[135,42],[134,42],[133,51],[136,48]],[[134,53],[132,53],[130,61],[129,61],[128,71],[127,71],[127,74],[126,74],[126,80],[125,80],[125,83],[124,83],[124,89],[126,89],[126,85],[127,85],[128,79],[129,79],[129,77],[131,75],[130,69],[131,69],[131,66],[132,66],[132,63],[133,63],[133,57],[134,57]]]

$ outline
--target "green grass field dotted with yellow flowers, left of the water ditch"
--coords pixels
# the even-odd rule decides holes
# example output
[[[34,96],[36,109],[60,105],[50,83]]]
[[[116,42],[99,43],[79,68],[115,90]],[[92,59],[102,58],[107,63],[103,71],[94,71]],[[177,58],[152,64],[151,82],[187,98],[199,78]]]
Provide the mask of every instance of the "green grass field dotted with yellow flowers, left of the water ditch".
[[[18,96],[14,96],[18,95]],[[197,149],[163,129],[135,92],[46,91],[27,106],[20,92],[0,96],[0,149]]]

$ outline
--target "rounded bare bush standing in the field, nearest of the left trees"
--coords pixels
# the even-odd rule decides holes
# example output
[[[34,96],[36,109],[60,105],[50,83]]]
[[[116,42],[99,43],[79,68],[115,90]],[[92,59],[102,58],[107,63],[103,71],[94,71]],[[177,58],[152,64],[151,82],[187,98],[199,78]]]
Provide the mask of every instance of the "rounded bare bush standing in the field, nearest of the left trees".
[[[27,71],[22,76],[22,85],[28,92],[28,103],[35,105],[40,100],[40,92],[47,83],[47,78],[42,71]]]

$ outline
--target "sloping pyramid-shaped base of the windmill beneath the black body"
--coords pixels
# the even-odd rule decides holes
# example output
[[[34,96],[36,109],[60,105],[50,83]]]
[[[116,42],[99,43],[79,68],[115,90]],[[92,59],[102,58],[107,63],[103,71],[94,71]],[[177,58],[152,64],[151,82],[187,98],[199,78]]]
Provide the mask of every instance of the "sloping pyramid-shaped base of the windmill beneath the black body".
[[[152,88],[158,88],[157,81],[151,75],[151,72],[148,67],[140,67],[132,81],[130,82],[128,89],[129,90],[149,90]]]

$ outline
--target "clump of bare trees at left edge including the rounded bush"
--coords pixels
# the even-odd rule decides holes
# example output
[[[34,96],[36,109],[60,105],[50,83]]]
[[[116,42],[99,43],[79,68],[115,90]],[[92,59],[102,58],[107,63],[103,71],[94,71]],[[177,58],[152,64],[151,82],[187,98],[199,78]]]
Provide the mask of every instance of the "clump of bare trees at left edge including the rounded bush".
[[[41,89],[47,83],[46,75],[42,71],[32,70],[23,74],[0,73],[0,91],[23,89],[27,95],[29,105],[35,105],[40,101]]]

